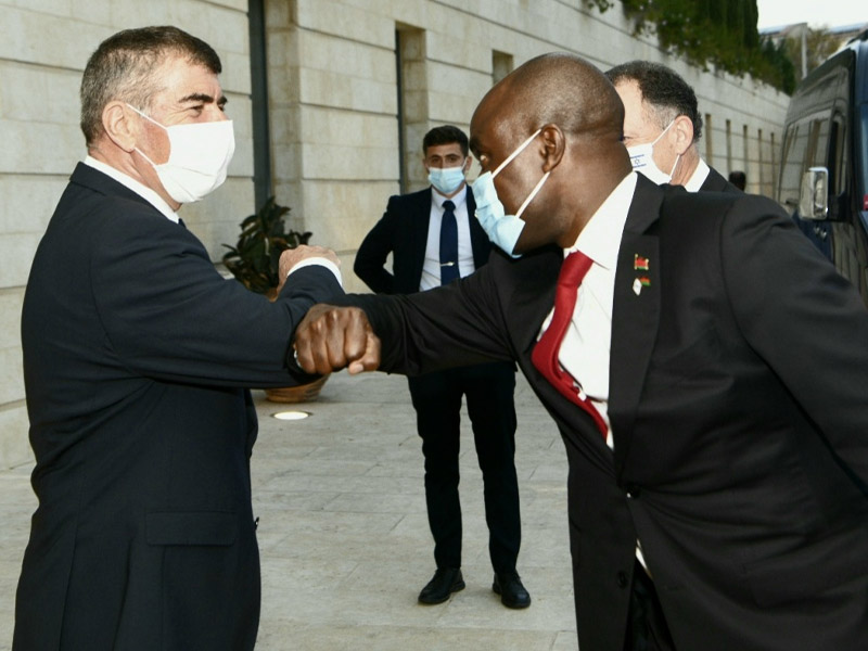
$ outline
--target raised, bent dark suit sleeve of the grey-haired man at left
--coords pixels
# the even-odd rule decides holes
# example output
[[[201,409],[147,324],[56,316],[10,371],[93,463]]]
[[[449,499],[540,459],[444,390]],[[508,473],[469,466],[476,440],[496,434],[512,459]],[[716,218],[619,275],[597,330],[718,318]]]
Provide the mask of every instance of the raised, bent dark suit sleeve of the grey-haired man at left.
[[[179,232],[180,231],[180,232]],[[104,345],[136,374],[234,386],[292,384],[293,332],[318,302],[343,294],[324,267],[292,273],[275,303],[224,279],[199,240],[169,221],[105,228],[91,258]]]

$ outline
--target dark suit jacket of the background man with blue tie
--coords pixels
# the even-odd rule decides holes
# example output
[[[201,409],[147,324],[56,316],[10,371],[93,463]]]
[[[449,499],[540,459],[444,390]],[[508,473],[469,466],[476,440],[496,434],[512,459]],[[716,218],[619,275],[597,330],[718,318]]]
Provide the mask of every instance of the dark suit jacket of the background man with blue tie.
[[[478,269],[488,260],[492,244],[473,216],[476,204],[465,188],[473,264]],[[390,197],[386,212],[365,237],[353,270],[378,294],[411,294],[419,291],[425,261],[431,219],[431,188]],[[385,268],[392,254],[392,269]]]

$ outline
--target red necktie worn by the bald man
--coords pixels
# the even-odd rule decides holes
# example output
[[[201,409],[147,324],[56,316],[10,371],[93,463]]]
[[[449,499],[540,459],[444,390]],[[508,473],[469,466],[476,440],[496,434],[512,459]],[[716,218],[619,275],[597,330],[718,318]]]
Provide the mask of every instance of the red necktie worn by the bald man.
[[[580,251],[571,253],[564,259],[561,273],[558,276],[558,286],[554,290],[554,314],[546,332],[542,333],[542,336],[539,337],[536,346],[534,346],[531,360],[537,370],[545,375],[546,380],[551,382],[554,388],[561,392],[566,399],[575,403],[590,414],[603,438],[605,438],[609,430],[605,421],[590,400],[579,397],[573,376],[558,361],[561,342],[563,342],[563,336],[566,334],[566,328],[570,326],[576,307],[578,285],[582,283],[582,279],[585,278],[585,273],[590,269],[591,263],[592,260]]]

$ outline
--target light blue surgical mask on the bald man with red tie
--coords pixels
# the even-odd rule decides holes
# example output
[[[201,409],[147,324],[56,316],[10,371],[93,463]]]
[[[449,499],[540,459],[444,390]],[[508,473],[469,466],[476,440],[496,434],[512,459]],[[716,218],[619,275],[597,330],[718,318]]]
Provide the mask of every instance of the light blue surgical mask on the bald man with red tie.
[[[525,148],[534,141],[534,138],[539,136],[542,129],[537,129],[533,136],[525,140],[518,149],[512,152],[507,158],[497,166],[494,171],[486,171],[473,181],[471,189],[473,190],[473,199],[476,202],[476,219],[488,235],[488,239],[502,248],[506,253],[514,258],[521,257],[521,254],[515,255],[512,251],[515,248],[515,243],[524,229],[524,221],[521,219],[524,209],[531,201],[542,189],[542,184],[549,178],[550,173],[542,175],[539,182],[531,190],[531,194],[524,200],[524,203],[515,210],[514,215],[507,215],[503,204],[497,197],[497,190],[495,190],[495,177],[500,174],[507,165],[512,163],[512,159],[521,154]]]

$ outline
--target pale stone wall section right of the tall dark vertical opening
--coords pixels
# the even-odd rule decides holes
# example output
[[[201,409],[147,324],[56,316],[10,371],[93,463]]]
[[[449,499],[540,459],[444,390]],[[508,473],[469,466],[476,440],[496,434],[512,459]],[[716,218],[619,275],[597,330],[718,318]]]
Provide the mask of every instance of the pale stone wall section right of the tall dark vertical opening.
[[[266,24],[275,192],[297,228],[339,252],[350,290],[365,290],[353,257],[388,195],[426,184],[424,132],[467,129],[503,62],[544,52],[573,51],[602,69],[631,59],[674,67],[706,114],[706,161],[773,193],[789,98],[636,39],[620,5],[600,14],[582,0],[266,0]]]

